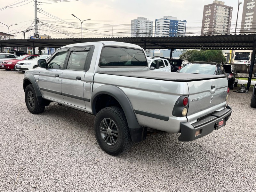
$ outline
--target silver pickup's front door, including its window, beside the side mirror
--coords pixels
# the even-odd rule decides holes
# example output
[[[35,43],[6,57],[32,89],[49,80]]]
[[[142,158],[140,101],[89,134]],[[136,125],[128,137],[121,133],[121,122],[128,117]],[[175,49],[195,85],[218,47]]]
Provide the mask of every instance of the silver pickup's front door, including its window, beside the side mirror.
[[[68,50],[64,48],[56,51],[51,60],[47,62],[47,67],[40,70],[38,85],[43,97],[63,102],[61,78]]]

